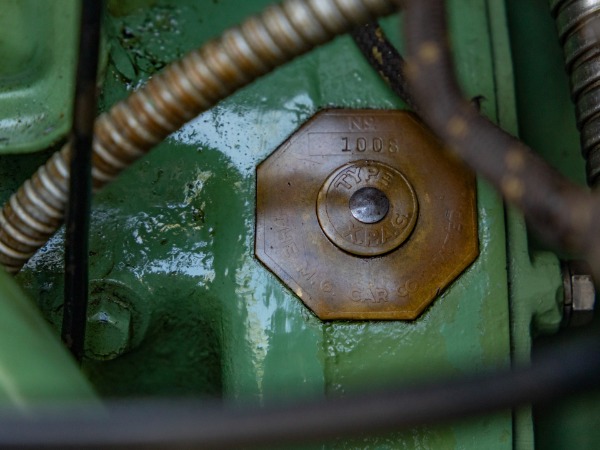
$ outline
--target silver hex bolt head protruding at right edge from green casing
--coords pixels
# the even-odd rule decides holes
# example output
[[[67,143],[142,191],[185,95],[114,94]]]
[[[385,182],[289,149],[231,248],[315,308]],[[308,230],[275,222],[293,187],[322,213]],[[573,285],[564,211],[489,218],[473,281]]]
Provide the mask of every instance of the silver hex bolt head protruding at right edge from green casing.
[[[563,327],[586,325],[594,317],[596,288],[591,271],[583,261],[562,264],[565,289]]]

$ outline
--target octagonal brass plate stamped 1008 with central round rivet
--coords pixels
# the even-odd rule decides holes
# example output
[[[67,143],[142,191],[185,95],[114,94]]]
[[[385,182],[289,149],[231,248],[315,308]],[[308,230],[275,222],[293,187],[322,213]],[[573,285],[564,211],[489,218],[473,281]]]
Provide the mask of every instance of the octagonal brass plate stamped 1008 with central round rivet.
[[[321,319],[415,319],[479,254],[475,177],[409,112],[322,111],[258,167],[255,251]]]

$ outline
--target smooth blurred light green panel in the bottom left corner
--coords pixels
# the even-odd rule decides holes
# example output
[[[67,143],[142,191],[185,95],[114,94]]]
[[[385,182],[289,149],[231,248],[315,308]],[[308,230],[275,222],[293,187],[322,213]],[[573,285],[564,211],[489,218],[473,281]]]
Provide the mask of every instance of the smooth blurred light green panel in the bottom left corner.
[[[13,278],[0,271],[0,407],[97,405],[89,382]]]

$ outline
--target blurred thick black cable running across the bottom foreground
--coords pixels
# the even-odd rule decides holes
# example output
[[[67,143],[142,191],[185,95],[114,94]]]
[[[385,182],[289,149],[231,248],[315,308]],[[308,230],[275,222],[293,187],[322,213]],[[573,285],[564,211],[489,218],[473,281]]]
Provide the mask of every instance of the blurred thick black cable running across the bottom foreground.
[[[598,387],[600,340],[570,341],[530,367],[415,388],[297,403],[113,405],[109,413],[59,410],[23,419],[0,414],[2,448],[249,448],[323,442],[452,421]],[[14,414],[14,413],[13,413]]]

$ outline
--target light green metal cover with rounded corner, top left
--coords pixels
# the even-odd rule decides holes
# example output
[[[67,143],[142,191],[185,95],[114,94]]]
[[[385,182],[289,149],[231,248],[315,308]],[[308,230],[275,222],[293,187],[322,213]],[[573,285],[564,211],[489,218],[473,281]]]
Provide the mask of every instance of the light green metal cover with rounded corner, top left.
[[[79,3],[2,0],[0,154],[45,149],[71,126]]]

